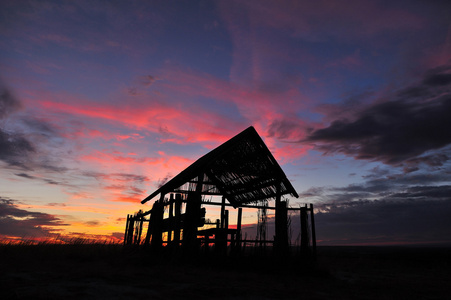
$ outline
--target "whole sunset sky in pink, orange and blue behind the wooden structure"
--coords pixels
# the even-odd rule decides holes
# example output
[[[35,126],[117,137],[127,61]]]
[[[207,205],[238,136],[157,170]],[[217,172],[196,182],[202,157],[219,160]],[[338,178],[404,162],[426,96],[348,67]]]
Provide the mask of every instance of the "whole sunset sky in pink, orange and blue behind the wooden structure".
[[[249,126],[319,245],[450,244],[451,2],[1,1],[0,238],[121,238]]]

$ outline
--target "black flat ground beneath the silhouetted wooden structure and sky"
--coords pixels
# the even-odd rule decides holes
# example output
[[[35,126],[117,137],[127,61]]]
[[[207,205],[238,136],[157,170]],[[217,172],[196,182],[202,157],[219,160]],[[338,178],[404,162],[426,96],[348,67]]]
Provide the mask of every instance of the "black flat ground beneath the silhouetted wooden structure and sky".
[[[451,299],[451,249],[319,247],[317,263],[0,246],[0,299]]]

